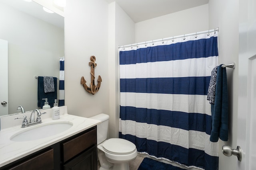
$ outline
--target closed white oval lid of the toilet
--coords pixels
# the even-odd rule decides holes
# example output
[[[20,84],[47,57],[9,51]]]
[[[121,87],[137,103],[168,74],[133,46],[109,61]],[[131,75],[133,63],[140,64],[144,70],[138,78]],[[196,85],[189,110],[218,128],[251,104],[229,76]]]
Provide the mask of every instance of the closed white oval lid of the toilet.
[[[136,150],[136,146],[125,139],[112,138],[102,145],[106,152],[112,154],[130,154]]]

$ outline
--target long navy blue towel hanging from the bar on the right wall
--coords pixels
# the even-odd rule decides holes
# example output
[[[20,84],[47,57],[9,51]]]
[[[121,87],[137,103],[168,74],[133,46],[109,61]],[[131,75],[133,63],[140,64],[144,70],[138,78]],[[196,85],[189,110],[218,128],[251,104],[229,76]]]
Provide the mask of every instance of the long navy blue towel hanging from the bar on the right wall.
[[[217,68],[215,103],[212,108],[212,131],[210,141],[228,141],[228,86],[226,68]]]

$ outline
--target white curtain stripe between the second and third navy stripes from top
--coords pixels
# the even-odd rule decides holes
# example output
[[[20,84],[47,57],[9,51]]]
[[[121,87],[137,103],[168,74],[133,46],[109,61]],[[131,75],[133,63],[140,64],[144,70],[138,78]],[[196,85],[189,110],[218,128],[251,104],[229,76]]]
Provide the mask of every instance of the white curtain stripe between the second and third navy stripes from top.
[[[206,98],[207,96],[204,95],[120,92],[120,106],[202,113],[211,116],[211,105]],[[194,103],[188,105],[190,101]]]

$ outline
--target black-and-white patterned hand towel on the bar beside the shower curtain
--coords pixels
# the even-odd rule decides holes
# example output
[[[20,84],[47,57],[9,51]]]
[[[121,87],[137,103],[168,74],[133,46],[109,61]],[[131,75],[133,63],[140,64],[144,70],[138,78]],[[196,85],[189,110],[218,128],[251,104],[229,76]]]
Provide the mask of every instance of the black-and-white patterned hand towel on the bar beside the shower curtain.
[[[212,69],[212,75],[211,75],[210,84],[209,84],[208,93],[207,93],[207,100],[210,100],[210,104],[214,104],[215,102],[217,68],[218,66]]]

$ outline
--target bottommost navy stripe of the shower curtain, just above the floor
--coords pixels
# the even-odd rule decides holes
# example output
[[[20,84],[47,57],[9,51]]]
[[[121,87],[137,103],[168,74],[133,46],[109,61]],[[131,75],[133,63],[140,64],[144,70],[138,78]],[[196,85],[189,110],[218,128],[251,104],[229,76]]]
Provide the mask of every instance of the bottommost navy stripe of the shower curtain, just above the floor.
[[[196,166],[205,170],[216,170],[216,166],[212,165],[218,165],[218,156],[210,156],[206,154],[204,150],[193,148],[187,149],[170,143],[138,138],[134,135],[123,135],[121,132],[119,132],[119,138],[134,143],[138,152],[147,150],[150,155],[167,158],[169,160],[176,160],[186,166]]]

